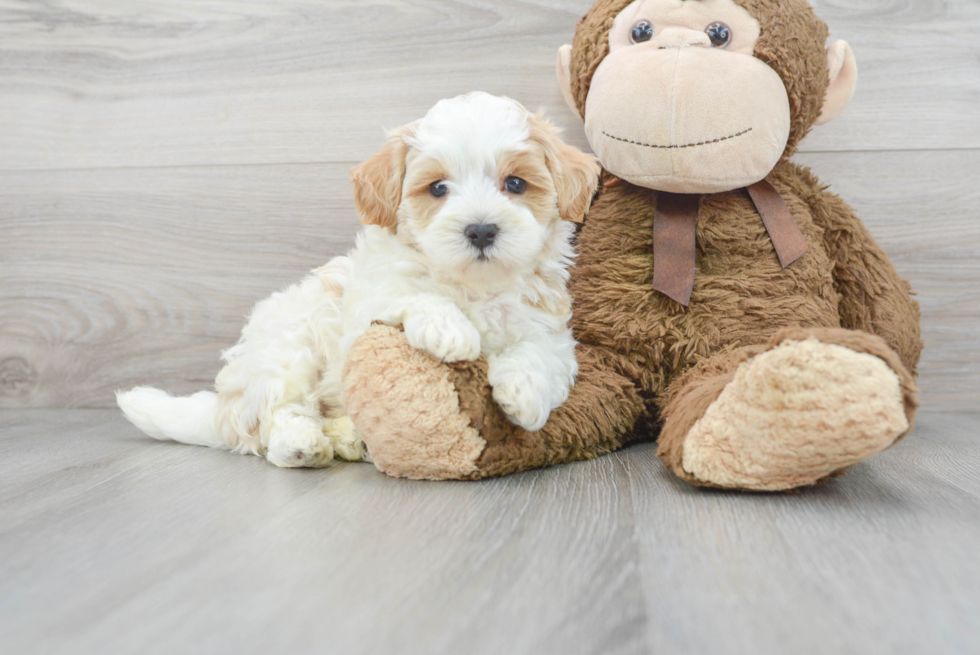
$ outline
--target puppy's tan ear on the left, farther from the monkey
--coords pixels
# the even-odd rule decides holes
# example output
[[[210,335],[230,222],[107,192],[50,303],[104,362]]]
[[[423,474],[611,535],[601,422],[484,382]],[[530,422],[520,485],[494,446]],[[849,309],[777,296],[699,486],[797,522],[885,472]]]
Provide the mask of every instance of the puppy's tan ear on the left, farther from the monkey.
[[[414,128],[413,123],[389,132],[384,147],[351,171],[354,206],[364,225],[380,225],[391,232],[396,231],[408,154],[405,137]]]

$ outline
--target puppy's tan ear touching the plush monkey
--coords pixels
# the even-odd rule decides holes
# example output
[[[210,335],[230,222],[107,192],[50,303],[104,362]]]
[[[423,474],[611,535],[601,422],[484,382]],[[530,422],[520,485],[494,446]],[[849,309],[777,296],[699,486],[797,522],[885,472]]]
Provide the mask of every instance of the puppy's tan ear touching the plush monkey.
[[[558,191],[558,211],[563,220],[581,223],[592,206],[602,169],[599,161],[558,136],[558,129],[541,114],[529,117],[531,140],[544,148],[545,161]]]

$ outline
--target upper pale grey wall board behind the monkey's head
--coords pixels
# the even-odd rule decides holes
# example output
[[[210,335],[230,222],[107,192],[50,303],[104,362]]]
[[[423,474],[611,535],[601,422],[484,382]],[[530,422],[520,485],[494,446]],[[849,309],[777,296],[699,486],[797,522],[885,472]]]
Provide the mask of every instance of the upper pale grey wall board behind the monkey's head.
[[[0,169],[342,162],[472,90],[543,106],[590,0],[0,5]],[[811,151],[980,147],[980,4],[816,2],[860,89]]]

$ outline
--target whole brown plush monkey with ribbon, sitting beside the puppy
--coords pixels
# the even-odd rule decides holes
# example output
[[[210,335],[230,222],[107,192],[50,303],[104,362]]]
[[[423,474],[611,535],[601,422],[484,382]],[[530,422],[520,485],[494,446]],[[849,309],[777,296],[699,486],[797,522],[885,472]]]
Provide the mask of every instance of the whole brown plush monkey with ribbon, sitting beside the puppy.
[[[919,309],[851,209],[789,161],[856,81],[806,0],[599,0],[559,78],[608,172],[579,236],[579,380],[543,430],[511,425],[485,362],[378,326],[347,407],[375,463],[483,478],[659,438],[683,479],[814,484],[911,427]]]

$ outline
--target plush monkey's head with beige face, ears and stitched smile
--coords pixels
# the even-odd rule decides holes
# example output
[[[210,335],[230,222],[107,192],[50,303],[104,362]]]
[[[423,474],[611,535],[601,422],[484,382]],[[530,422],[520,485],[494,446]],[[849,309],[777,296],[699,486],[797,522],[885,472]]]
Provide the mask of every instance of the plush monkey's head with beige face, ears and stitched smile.
[[[598,0],[558,77],[606,170],[717,193],[765,178],[850,101],[854,55],[827,37],[807,0]]]

